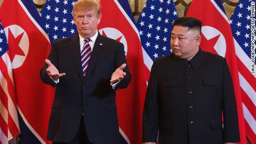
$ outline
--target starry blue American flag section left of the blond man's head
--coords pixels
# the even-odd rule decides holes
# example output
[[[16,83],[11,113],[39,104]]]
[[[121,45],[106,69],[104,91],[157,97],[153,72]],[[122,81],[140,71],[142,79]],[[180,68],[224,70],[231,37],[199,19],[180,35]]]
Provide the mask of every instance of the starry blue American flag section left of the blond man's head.
[[[43,19],[45,32],[51,43],[57,39],[73,36],[77,33],[73,21],[72,9],[76,1],[48,0],[42,8],[40,16]]]

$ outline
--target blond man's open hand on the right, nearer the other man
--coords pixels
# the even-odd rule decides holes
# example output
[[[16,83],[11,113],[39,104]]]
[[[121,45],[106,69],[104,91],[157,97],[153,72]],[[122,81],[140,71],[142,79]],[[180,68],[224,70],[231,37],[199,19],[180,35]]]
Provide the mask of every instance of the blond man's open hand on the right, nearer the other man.
[[[126,72],[122,71],[126,67],[126,63],[122,64],[119,68],[113,72],[110,80],[110,85],[112,86],[114,83],[119,82],[126,76]]]

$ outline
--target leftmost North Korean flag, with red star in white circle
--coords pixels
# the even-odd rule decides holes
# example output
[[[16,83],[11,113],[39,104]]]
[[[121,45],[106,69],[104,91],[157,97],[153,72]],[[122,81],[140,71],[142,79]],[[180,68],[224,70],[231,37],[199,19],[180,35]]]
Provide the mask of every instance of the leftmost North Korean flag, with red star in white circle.
[[[46,133],[53,88],[40,80],[40,69],[50,52],[48,36],[38,24],[33,1],[3,1],[0,18],[9,46],[22,143],[50,143]]]

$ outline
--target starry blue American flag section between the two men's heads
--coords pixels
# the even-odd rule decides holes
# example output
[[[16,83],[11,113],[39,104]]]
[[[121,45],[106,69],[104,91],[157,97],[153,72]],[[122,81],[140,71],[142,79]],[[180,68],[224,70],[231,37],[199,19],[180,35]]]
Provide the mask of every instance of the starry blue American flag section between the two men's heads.
[[[136,26],[139,29],[144,63],[150,70],[154,59],[171,53],[173,22],[178,18],[173,1],[148,0]]]

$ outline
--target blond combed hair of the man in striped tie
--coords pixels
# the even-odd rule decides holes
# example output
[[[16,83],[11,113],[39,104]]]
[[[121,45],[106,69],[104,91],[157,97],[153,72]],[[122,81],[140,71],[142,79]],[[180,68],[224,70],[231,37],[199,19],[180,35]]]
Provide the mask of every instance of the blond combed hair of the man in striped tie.
[[[100,12],[100,0],[78,0],[75,2],[73,6],[72,15],[75,16],[75,12],[79,10],[85,10],[85,9],[93,9],[96,8],[97,11],[97,17],[101,17]]]

